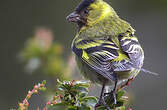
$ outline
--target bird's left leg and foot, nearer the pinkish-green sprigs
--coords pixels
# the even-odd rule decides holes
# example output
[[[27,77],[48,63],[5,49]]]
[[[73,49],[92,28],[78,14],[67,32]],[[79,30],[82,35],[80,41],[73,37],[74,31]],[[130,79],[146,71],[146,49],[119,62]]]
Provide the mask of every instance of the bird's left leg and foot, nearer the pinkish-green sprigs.
[[[97,107],[99,107],[101,105],[104,105],[107,110],[110,110],[110,107],[107,106],[107,104],[104,100],[104,89],[105,89],[105,83],[103,83],[101,94],[100,94],[100,99],[99,99],[98,103],[95,105],[95,110],[96,110]]]

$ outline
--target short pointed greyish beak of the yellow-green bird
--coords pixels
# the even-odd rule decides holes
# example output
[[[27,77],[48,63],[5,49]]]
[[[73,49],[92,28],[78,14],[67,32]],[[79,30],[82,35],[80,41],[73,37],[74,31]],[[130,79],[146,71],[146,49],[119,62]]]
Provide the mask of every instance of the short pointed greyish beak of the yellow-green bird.
[[[68,15],[68,16],[66,17],[66,20],[69,21],[69,22],[75,22],[75,23],[81,21],[80,15],[77,14],[76,12],[73,12],[73,13],[71,13],[70,15]]]

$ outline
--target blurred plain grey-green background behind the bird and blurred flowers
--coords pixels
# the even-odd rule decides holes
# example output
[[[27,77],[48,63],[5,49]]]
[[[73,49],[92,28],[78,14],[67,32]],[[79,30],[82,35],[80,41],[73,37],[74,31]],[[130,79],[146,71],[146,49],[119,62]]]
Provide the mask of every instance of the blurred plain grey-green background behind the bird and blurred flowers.
[[[1,0],[0,1],[0,109],[16,108],[32,86],[46,79],[39,74],[27,74],[18,56],[27,39],[37,27],[51,29],[54,39],[64,46],[63,56],[71,54],[75,25],[65,18],[80,0]],[[130,85],[133,110],[166,108],[167,93],[167,1],[166,0],[106,0],[118,15],[137,30],[145,50],[144,68],[160,76],[140,73]],[[49,80],[49,79],[48,79]],[[92,92],[92,91],[91,91]],[[99,89],[97,89],[99,94]],[[91,94],[91,93],[90,93]],[[34,110],[44,101],[31,99]]]

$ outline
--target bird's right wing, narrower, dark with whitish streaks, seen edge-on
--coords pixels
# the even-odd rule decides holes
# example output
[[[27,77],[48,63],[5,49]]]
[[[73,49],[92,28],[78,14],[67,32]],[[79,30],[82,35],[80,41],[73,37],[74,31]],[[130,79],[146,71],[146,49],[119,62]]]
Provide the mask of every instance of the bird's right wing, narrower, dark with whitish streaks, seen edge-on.
[[[143,65],[144,52],[140,46],[137,37],[130,31],[118,36],[120,48],[129,56],[130,61],[127,64],[129,67],[140,69]]]

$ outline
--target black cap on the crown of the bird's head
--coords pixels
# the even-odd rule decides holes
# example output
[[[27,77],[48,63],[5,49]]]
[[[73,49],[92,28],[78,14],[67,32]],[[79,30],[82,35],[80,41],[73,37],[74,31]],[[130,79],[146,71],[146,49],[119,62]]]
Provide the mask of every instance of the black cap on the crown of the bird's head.
[[[95,2],[95,0],[83,0],[75,9],[76,12],[80,12],[81,10],[87,8],[91,3]]]

